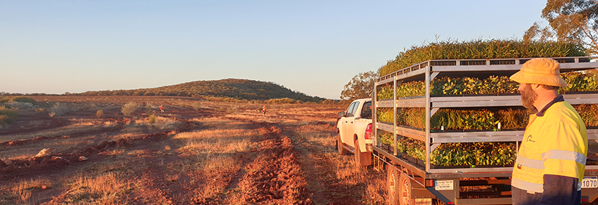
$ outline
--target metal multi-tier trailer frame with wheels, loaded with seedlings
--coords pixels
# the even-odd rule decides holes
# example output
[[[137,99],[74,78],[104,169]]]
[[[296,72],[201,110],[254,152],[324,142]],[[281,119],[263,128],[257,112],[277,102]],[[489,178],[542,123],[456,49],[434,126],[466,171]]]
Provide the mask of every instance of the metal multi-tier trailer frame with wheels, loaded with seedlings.
[[[598,68],[592,57],[553,58],[561,64],[561,73]],[[372,163],[376,170],[386,170],[390,204],[511,204],[511,171],[513,164],[497,166],[435,166],[431,152],[443,143],[519,143],[521,130],[438,131],[431,130],[431,117],[439,109],[508,109],[521,108],[521,95],[431,95],[431,81],[440,77],[506,76],[518,72],[530,58],[428,60],[376,79],[372,98],[374,146]],[[397,86],[410,81],[424,81],[425,95],[399,98]],[[392,86],[394,97],[378,100],[382,86]],[[597,92],[566,93],[571,105],[598,103]],[[410,107],[423,108],[425,128],[397,125],[397,111]],[[393,109],[394,123],[378,120],[378,108]],[[393,135],[393,143],[381,143],[381,133]],[[408,156],[397,149],[399,138],[424,143],[425,160]],[[597,140],[598,128],[587,128],[588,140]],[[595,150],[594,150],[595,152]],[[517,152],[515,152],[517,153]],[[583,180],[582,202],[598,197],[598,163],[588,159]]]

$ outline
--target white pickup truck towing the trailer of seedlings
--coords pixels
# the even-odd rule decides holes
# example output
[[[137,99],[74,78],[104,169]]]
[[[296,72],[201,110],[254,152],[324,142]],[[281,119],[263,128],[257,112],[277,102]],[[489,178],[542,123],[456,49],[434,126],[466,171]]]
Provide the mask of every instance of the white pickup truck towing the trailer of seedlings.
[[[371,98],[358,99],[351,102],[346,111],[338,112],[341,118],[336,121],[338,153],[355,154],[355,162],[359,168],[371,164],[375,137],[371,127],[371,113]]]

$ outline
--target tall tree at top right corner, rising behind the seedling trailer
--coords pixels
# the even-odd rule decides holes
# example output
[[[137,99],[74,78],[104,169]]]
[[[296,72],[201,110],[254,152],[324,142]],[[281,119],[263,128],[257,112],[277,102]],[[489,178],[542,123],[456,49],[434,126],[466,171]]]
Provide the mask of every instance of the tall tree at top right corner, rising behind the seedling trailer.
[[[556,38],[583,44],[589,53],[598,54],[598,1],[548,0],[542,9],[542,18],[551,29],[540,29],[537,22],[526,31],[524,40]]]

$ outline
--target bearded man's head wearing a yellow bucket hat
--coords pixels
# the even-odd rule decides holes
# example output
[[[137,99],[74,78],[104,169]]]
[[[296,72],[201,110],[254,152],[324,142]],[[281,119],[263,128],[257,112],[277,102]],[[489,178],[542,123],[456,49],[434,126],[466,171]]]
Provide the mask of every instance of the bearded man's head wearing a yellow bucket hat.
[[[567,86],[565,80],[561,78],[560,70],[559,62],[549,58],[534,58],[524,63],[521,70],[510,77],[511,80],[521,84],[519,92],[521,92],[523,107],[537,112],[537,107],[534,105],[538,98],[537,91],[557,93],[559,87]]]

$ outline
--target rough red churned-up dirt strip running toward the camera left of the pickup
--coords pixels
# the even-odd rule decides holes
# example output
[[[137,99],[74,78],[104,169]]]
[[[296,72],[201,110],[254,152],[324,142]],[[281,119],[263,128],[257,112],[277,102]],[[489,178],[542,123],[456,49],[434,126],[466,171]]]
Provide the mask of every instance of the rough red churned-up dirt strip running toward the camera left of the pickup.
[[[234,119],[250,121],[247,119]],[[231,180],[234,194],[223,196],[223,204],[313,204],[307,192],[307,183],[298,163],[291,139],[282,134],[276,124],[255,122],[261,139],[251,152],[244,169]],[[241,176],[241,174],[243,176]]]

